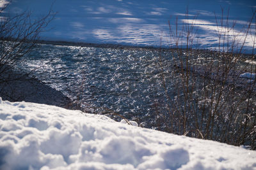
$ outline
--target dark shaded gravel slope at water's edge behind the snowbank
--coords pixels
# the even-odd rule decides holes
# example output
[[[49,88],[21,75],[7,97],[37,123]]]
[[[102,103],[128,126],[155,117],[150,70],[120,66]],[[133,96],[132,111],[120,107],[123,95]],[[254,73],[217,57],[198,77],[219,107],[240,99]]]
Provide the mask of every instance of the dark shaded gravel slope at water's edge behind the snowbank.
[[[11,102],[26,101],[69,108],[71,99],[46,83],[24,73],[9,70],[12,80],[0,83],[0,97]]]

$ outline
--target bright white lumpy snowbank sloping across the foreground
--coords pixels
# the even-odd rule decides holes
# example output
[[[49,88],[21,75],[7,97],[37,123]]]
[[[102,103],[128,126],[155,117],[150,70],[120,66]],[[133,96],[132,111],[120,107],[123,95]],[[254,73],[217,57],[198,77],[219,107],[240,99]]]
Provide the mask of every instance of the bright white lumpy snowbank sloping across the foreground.
[[[0,97],[0,169],[256,169],[256,152]]]

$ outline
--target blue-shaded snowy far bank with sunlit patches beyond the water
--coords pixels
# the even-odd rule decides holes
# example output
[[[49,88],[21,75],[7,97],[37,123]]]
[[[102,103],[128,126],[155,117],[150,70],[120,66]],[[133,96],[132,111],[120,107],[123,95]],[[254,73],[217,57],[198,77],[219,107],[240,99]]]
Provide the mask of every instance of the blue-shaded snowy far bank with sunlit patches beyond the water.
[[[1,2],[4,3],[4,1],[9,0]],[[252,10],[256,8],[256,1],[253,0],[22,0],[13,1],[9,6],[9,12],[15,14],[23,10],[31,10],[33,17],[40,17],[49,11],[51,4],[53,4],[52,10],[58,13],[49,25],[50,31],[43,32],[42,39],[136,46],[169,46],[174,43],[170,42],[168,20],[171,20],[171,25],[174,26],[177,16],[181,30],[183,24],[193,23],[193,18],[198,15],[194,22],[197,29],[194,43],[200,48],[211,49],[216,48],[219,43],[216,35],[218,27],[215,15],[218,19],[221,18],[221,7],[224,9],[224,20],[230,8],[229,28],[236,21],[235,29],[228,34],[231,36],[236,34],[237,39],[241,41],[246,35],[243,31],[241,32],[241,29],[250,20]],[[185,19],[187,6],[188,20]],[[226,21],[223,23],[227,24]],[[255,27],[255,23],[252,27]],[[253,37],[249,35],[246,38],[244,50],[251,52],[252,48]]]

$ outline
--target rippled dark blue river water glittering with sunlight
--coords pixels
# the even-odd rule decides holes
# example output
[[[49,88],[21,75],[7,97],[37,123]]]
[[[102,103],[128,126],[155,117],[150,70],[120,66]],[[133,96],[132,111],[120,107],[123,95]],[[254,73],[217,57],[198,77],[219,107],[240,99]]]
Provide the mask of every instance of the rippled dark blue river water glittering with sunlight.
[[[143,122],[156,116],[154,105],[164,100],[159,56],[159,50],[140,48],[38,45],[24,69],[37,68],[40,80],[82,103],[86,111],[107,109]],[[165,67],[172,67],[169,52],[161,57]]]

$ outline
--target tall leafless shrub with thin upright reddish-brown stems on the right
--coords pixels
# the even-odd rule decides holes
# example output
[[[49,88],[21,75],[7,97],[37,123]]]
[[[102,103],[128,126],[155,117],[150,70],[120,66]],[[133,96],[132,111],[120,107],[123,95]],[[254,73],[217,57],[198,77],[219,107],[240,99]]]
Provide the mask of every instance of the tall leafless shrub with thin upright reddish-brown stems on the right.
[[[181,30],[178,18],[174,28],[169,22],[170,41],[175,44],[171,48],[173,67],[170,71],[164,66],[161,52],[158,64],[167,108],[161,114],[164,131],[256,149],[256,65],[244,62],[255,60],[255,55],[253,49],[251,55],[242,53],[246,38],[251,36],[255,44],[255,12],[240,38],[234,34],[236,23],[228,19],[229,10],[225,15],[221,9],[221,17],[216,17],[216,50],[196,48],[196,17]],[[241,77],[244,72],[252,77]],[[173,94],[167,88],[167,77],[172,78]]]

